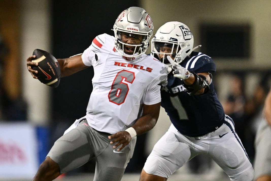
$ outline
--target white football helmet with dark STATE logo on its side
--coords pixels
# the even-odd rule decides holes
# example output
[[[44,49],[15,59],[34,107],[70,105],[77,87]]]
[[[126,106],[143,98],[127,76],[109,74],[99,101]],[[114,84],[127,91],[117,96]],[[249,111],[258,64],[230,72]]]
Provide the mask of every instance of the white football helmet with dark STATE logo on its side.
[[[157,55],[163,54],[163,59],[160,59],[166,65],[171,65],[167,60],[166,55],[172,55],[174,61],[181,63],[188,57],[193,49],[194,38],[190,29],[183,23],[178,21],[167,22],[161,26],[153,39],[151,40],[151,53]],[[171,52],[160,52],[160,47],[170,47]]]

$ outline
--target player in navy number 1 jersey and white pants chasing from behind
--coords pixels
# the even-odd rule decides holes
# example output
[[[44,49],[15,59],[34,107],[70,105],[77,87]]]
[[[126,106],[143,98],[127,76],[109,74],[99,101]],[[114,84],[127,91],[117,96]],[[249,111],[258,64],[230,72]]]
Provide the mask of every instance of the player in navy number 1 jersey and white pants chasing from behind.
[[[193,52],[200,47],[193,43],[193,34],[180,22],[164,24],[151,40],[153,55],[173,69],[161,87],[161,106],[172,124],[147,158],[140,181],[167,180],[199,154],[211,157],[231,180],[251,181],[250,159],[214,90],[215,63]]]

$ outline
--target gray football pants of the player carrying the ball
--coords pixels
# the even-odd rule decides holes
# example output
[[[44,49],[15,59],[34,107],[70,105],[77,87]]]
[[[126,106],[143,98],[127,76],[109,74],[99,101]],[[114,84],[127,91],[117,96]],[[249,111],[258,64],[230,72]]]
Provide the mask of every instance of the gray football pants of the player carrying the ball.
[[[76,169],[96,157],[94,181],[119,181],[133,156],[136,136],[118,152],[109,143],[108,135],[94,130],[83,119],[54,143],[47,157],[59,164],[60,173]]]

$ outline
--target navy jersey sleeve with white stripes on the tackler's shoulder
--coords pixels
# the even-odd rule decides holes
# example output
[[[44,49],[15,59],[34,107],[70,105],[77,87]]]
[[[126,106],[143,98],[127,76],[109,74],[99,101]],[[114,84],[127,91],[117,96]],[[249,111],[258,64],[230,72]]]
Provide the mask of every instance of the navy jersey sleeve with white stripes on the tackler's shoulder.
[[[192,63],[187,65],[188,68],[186,69],[190,69],[190,71],[193,71],[196,74],[216,71],[216,66],[212,58],[203,53],[200,53],[195,59],[192,60]]]

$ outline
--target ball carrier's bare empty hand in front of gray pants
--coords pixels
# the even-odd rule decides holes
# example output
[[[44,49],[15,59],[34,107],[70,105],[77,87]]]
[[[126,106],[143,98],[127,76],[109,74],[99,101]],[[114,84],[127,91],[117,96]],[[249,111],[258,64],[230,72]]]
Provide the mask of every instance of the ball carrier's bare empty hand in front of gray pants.
[[[130,133],[128,133],[127,131],[119,131],[111,136],[108,136],[108,138],[112,139],[112,141],[110,141],[110,144],[117,143],[113,146],[114,149],[122,144],[117,151],[122,150],[122,148],[128,145],[132,139]]]

